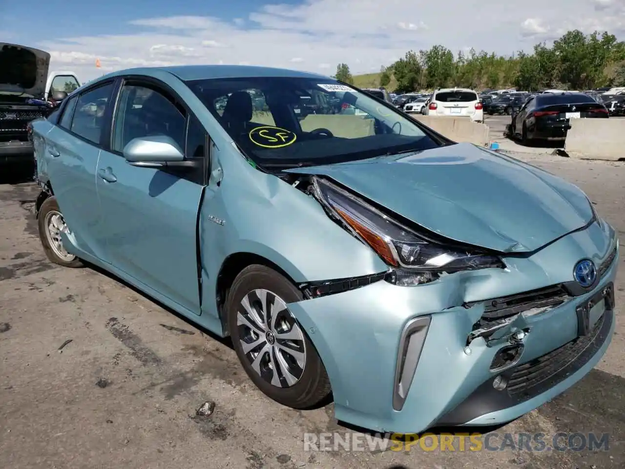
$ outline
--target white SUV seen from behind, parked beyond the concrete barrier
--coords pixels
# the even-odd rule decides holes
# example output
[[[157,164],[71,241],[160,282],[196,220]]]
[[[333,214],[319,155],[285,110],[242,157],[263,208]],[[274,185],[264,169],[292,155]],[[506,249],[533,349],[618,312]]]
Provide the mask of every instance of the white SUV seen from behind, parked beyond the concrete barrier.
[[[484,121],[484,109],[477,93],[466,88],[437,89],[429,99],[426,116],[467,117]]]

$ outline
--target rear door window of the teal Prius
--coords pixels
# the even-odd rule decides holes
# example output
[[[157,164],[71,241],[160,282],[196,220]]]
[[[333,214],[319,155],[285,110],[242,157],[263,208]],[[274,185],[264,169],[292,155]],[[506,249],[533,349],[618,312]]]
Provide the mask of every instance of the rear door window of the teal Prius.
[[[106,108],[111,101],[113,83],[105,84],[79,96],[74,109],[71,132],[99,144]]]

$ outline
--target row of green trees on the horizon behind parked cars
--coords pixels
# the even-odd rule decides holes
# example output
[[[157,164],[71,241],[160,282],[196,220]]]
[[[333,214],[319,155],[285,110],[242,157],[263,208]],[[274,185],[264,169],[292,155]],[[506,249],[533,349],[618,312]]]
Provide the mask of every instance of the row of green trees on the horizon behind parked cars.
[[[338,69],[337,69],[338,71]],[[585,35],[568,31],[550,46],[539,43],[532,51],[501,56],[475,49],[456,56],[444,46],[408,51],[381,73],[381,86],[397,81],[396,91],[462,86],[536,91],[541,88],[592,89],[625,86],[625,42],[607,31]]]

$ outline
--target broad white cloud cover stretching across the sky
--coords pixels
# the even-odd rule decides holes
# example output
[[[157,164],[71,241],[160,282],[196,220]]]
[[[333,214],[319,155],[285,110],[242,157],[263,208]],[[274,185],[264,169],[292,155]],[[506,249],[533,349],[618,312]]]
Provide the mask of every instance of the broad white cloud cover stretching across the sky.
[[[404,12],[399,24],[398,11]],[[523,12],[533,14],[519,16]],[[73,68],[83,79],[131,66],[222,61],[322,73],[332,73],[344,62],[356,74],[379,71],[409,49],[434,44],[454,53],[469,47],[512,54],[574,28],[585,33],[607,29],[625,39],[625,0],[526,0],[521,9],[495,0],[482,0],[477,6],[429,0],[417,10],[413,0],[306,0],[299,5],[261,6],[228,21],[170,16],[137,18],[127,26],[124,34],[58,34],[37,46],[51,51],[53,67]],[[101,69],[94,66],[96,58]]]

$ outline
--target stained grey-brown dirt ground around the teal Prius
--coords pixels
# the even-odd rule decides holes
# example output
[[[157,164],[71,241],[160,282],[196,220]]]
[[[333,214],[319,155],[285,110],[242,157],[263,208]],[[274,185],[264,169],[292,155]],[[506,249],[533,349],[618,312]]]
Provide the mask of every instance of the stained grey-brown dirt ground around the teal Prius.
[[[625,240],[625,164],[518,158],[579,184]],[[332,418],[331,405],[294,411],[267,400],[227,342],[100,271],[49,263],[32,215],[36,195],[32,183],[0,185],[0,467],[625,467],[621,321],[604,360],[584,380],[496,430],[542,432],[547,440],[557,431],[607,432],[608,451],[305,452],[306,431],[348,431]],[[206,400],[215,411],[197,418]]]

